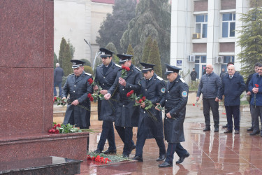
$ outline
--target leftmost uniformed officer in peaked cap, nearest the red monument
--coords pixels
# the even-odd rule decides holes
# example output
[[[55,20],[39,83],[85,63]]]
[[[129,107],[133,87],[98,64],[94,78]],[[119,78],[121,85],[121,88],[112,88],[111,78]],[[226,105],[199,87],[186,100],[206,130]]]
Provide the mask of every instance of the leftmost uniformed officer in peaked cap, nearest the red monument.
[[[90,126],[90,102],[87,94],[92,93],[93,88],[87,80],[92,78],[92,75],[85,73],[83,67],[85,62],[77,59],[72,59],[71,62],[73,62],[74,73],[68,76],[62,91],[63,99],[66,99],[70,94],[63,124],[70,123],[80,129],[88,129]]]

